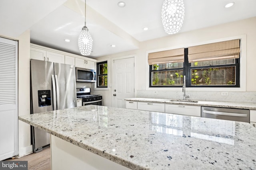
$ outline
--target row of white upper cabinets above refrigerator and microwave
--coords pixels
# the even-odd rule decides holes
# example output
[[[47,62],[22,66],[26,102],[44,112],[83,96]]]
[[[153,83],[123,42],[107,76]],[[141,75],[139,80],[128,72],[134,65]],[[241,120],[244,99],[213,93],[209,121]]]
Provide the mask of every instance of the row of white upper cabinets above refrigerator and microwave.
[[[70,64],[75,65],[76,67],[87,68],[91,70],[95,70],[96,63],[96,60],[94,59],[66,53],[64,51],[50,49],[48,47],[43,47],[32,43],[30,44],[30,59]]]

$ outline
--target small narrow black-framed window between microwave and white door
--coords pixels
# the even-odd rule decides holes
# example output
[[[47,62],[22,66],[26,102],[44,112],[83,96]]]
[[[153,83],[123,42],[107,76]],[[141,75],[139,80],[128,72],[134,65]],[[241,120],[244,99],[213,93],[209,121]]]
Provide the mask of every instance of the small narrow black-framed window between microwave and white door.
[[[97,88],[108,87],[108,62],[97,63]]]

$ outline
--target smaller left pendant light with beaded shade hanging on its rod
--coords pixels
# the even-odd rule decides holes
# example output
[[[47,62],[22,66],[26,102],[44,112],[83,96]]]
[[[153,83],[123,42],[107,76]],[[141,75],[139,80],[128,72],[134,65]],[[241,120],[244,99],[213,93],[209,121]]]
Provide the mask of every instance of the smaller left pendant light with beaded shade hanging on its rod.
[[[86,0],[84,10],[84,27],[78,37],[78,47],[82,55],[90,55],[92,51],[92,36],[89,33],[89,29],[86,27]]]

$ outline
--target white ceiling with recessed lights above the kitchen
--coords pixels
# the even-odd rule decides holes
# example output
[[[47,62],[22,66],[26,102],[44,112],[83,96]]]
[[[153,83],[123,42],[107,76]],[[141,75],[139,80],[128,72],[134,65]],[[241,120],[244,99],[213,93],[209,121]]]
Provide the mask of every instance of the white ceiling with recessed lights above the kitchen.
[[[141,41],[172,36],[162,27],[164,0],[122,0],[124,8],[117,6],[119,1],[86,0],[86,26],[93,39],[89,57],[138,49]],[[235,5],[224,8],[228,2]],[[184,0],[184,5],[180,32],[256,16],[256,0]],[[0,0],[0,35],[17,37],[30,29],[32,43],[79,55],[84,7],[84,0]]]

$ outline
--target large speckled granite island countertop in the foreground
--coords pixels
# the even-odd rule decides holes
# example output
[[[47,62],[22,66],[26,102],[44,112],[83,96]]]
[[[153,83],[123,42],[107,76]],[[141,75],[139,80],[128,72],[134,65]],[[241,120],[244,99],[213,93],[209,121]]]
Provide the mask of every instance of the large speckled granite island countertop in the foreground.
[[[134,170],[256,169],[249,123],[92,105],[19,119]]]

